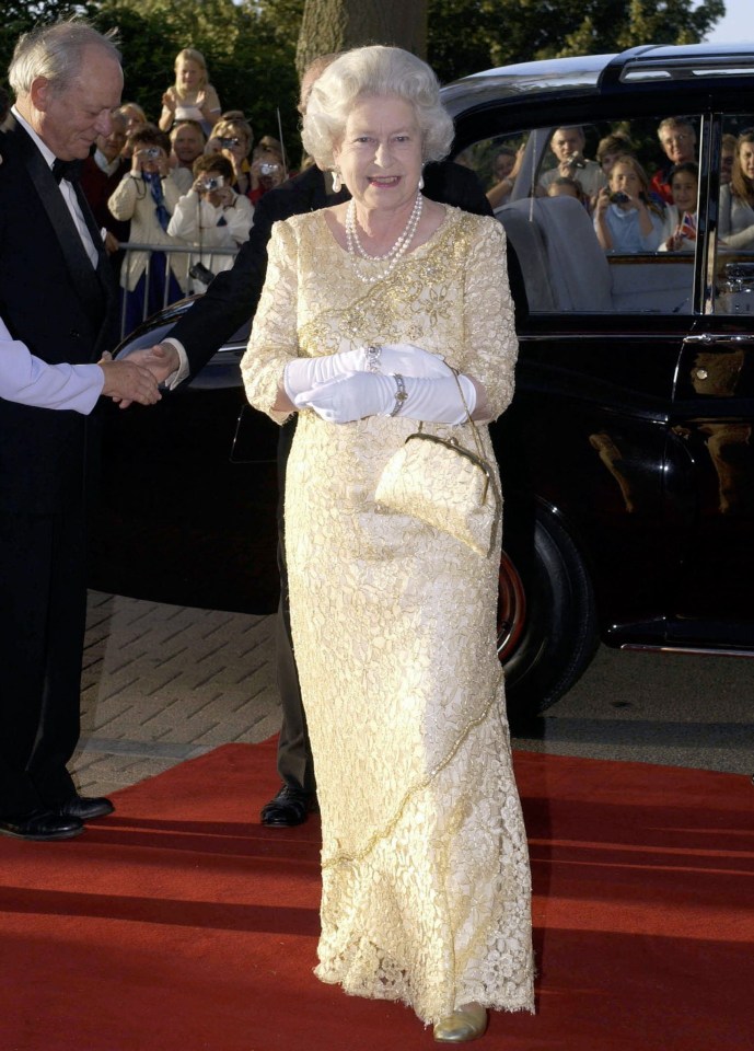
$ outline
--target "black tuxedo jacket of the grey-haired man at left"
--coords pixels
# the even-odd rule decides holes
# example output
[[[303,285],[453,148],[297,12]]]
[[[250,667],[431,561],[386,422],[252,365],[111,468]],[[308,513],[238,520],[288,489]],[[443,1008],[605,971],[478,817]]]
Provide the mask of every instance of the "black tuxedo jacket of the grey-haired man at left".
[[[0,315],[54,365],[95,362],[117,338],[117,296],[100,231],[92,266],[58,185],[15,122],[0,132]],[[0,400],[0,513],[54,513],[83,486],[90,420]],[[77,494],[72,497],[72,494]]]

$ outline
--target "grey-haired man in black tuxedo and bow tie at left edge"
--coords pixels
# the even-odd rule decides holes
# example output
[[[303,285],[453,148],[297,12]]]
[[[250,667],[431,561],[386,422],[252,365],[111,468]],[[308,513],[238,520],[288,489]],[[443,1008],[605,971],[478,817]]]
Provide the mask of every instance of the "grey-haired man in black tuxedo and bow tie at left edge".
[[[156,389],[134,362],[123,370],[106,360],[117,334],[113,276],[69,181],[71,162],[109,132],[118,53],[83,23],[58,23],[19,41],[9,81],[16,102],[0,134],[0,369],[12,354],[16,380],[0,399],[0,833],[58,840],[113,810],[81,797],[66,769],[79,738],[88,413],[101,393],[149,402]],[[69,395],[79,385],[82,400],[62,397],[61,383]]]

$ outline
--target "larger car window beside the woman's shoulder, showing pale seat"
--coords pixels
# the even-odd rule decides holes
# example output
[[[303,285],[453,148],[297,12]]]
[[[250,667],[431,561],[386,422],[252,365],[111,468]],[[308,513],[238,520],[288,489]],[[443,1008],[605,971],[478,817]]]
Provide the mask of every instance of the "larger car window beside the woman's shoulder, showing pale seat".
[[[691,313],[698,128],[685,114],[617,116],[522,128],[455,158],[515,249],[530,312]]]

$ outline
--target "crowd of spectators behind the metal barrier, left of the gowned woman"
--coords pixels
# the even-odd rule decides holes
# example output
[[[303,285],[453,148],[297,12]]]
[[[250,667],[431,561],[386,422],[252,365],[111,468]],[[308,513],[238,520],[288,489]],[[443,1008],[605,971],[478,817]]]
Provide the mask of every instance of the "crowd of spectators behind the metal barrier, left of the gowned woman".
[[[0,89],[0,124],[9,108]],[[248,238],[256,201],[290,174],[277,139],[255,143],[244,113],[222,111],[195,48],[176,56],[175,81],[150,117],[138,102],[124,102],[81,170],[120,282],[124,331],[187,292],[205,291]],[[129,243],[150,247],[125,252]],[[184,251],[170,251],[176,247]]]

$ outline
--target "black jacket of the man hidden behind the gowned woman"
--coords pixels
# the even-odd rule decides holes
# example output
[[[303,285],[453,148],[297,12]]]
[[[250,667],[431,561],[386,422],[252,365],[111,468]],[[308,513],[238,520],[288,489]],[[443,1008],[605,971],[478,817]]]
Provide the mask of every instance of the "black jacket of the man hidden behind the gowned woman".
[[[441,161],[427,164],[424,176],[426,197],[476,215],[492,215],[479,181],[469,169]],[[190,377],[196,376],[216,350],[253,317],[265,282],[267,242],[272,224],[291,216],[325,208],[334,200],[348,200],[348,192],[343,190],[340,195],[328,199],[325,176],[312,165],[259,198],[254,209],[248,241],[242,245],[233,268],[219,274],[205,294],[196,300],[169,333],[183,344]],[[520,270],[518,262],[511,259],[511,253],[512,250],[509,250],[509,270],[515,298],[515,286],[521,285],[515,275]]]

